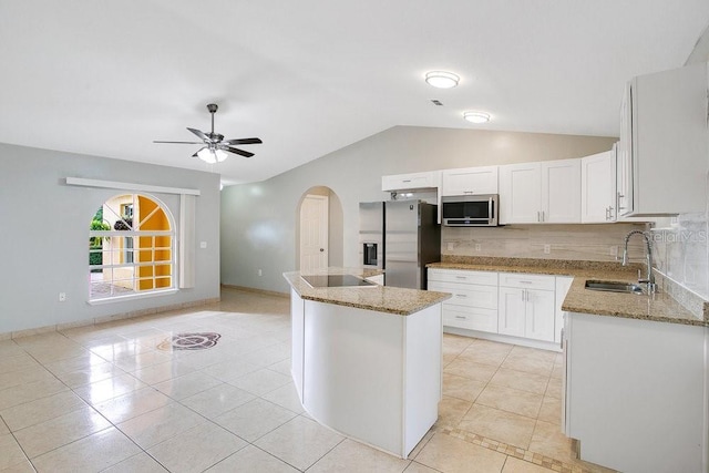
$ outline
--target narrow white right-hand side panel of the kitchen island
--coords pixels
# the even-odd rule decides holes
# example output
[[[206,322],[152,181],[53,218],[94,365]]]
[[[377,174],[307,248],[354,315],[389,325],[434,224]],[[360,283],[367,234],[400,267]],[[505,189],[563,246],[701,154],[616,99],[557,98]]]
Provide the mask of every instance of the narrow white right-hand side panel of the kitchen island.
[[[442,394],[443,322],[436,304],[405,317],[404,454],[439,417]]]

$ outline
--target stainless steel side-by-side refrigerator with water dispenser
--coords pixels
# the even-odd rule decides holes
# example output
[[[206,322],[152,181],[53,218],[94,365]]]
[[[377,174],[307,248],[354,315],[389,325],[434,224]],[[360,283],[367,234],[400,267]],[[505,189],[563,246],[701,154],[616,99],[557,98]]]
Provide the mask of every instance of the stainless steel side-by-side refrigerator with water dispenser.
[[[383,269],[386,286],[425,289],[425,265],[441,260],[436,210],[419,200],[360,203],[362,267]]]

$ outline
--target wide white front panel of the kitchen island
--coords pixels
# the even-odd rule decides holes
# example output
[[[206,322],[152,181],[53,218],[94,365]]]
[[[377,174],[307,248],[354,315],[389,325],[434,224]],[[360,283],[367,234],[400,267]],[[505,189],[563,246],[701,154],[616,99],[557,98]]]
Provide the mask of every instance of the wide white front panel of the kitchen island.
[[[305,402],[320,423],[403,456],[404,316],[305,301]]]

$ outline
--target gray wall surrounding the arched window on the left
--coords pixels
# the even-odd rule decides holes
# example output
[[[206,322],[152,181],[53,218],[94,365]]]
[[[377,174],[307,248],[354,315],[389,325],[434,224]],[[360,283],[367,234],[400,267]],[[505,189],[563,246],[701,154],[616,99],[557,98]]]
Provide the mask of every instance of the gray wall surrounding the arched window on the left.
[[[196,241],[207,248],[196,249],[195,288],[90,306],[89,225],[121,192],[68,186],[68,176],[199,189]],[[178,219],[177,195],[147,194]],[[0,333],[219,297],[218,174],[0,144]]]

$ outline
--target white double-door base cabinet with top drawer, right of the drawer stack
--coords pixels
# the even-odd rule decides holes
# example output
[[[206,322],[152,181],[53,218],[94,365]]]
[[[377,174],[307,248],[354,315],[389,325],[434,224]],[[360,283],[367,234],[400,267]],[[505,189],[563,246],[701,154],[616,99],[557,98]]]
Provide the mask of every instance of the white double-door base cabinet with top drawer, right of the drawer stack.
[[[553,341],[555,289],[554,276],[501,273],[497,331]]]

